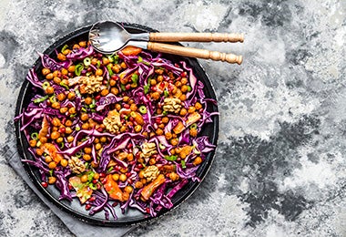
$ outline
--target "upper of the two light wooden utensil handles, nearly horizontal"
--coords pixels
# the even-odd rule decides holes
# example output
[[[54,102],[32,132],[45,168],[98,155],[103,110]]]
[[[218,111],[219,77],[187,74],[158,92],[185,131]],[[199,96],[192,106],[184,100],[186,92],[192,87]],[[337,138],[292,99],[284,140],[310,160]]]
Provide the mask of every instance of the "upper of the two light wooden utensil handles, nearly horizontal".
[[[227,33],[150,33],[150,41],[158,42],[243,42],[244,34]]]

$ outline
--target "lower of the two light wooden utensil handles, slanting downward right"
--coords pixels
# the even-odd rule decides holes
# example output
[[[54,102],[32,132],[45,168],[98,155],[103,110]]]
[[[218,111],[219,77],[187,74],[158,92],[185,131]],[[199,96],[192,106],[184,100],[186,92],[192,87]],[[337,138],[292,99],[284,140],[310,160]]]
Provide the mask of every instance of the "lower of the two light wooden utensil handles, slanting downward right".
[[[212,59],[215,61],[225,61],[231,64],[237,63],[239,65],[243,60],[242,56],[236,56],[233,54],[220,53],[217,51],[209,51],[207,49],[200,49],[187,46],[173,46],[155,42],[148,42],[148,50],[184,57],[198,57]]]

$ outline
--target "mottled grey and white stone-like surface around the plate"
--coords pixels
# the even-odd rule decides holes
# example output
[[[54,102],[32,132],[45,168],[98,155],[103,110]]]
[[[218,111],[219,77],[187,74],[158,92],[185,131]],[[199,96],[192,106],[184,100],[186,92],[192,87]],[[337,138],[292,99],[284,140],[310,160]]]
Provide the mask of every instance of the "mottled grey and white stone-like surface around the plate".
[[[104,19],[246,35],[185,44],[245,58],[240,67],[199,60],[219,96],[217,156],[188,201],[129,236],[346,236],[343,0],[1,0],[0,236],[72,235],[3,148],[15,144],[15,101],[36,50]]]

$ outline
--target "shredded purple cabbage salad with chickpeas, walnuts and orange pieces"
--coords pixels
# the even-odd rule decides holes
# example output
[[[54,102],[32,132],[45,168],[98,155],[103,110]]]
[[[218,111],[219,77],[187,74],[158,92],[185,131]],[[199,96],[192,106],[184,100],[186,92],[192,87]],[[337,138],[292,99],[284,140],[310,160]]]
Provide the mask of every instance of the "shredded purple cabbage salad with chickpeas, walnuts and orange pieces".
[[[218,113],[186,62],[133,46],[103,55],[87,41],[39,55],[43,67],[26,77],[35,96],[15,119],[33,156],[23,162],[59,200],[78,199],[106,220],[117,220],[116,206],[154,217],[199,181],[215,149],[200,131]]]

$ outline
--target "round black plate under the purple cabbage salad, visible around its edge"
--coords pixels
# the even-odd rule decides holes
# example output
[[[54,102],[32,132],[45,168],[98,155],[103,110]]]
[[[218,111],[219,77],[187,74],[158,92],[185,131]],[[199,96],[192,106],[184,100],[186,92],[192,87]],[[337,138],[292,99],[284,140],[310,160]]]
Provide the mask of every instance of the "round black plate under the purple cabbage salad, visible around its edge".
[[[155,32],[156,30],[148,28],[146,26],[140,26],[140,25],[133,25],[133,24],[124,24],[127,31],[130,33],[143,33],[143,32]],[[79,42],[80,39],[87,39],[87,34],[91,26],[86,26],[81,29],[78,29],[56,41],[55,44],[52,46],[49,46],[44,54],[49,55],[50,57],[56,58],[55,49],[60,49],[62,46],[66,45],[66,43],[75,43]],[[170,56],[165,55],[164,57],[167,57],[168,59],[178,62],[178,61],[186,61],[188,63],[189,67],[192,67],[194,69],[195,75],[199,80],[201,80],[204,85],[204,92],[206,95],[206,98],[214,98],[216,99],[214,88],[211,85],[211,82],[209,80],[209,77],[206,75],[204,69],[198,64],[198,61],[195,58],[188,58],[188,57],[178,57],[178,56]],[[36,68],[36,71],[40,71],[42,69],[42,64],[40,58],[36,60],[36,63],[34,65]],[[19,97],[17,99],[16,104],[16,110],[15,110],[15,116],[18,116],[22,111],[23,108],[26,108],[27,105],[30,102],[30,99],[33,98],[36,94],[36,91],[34,91],[33,87],[31,87],[31,84],[25,80],[22,88],[19,93]],[[219,111],[218,106],[211,106],[209,108],[209,111],[215,112]],[[21,124],[20,121],[15,122],[15,133],[16,133],[16,139],[17,139],[17,149],[19,151],[19,154],[22,158],[33,160],[32,155],[28,151],[28,142],[25,139],[24,132],[20,131]],[[207,124],[203,130],[202,135],[208,135],[210,142],[214,145],[217,145],[218,137],[219,137],[219,116],[213,117],[213,122]],[[211,166],[211,163],[214,159],[215,151],[212,151],[208,154],[207,159],[203,164],[199,167],[197,175],[198,177],[203,180],[206,174],[209,171],[209,168]],[[100,211],[99,213],[91,216],[88,214],[88,211],[85,210],[83,206],[79,204],[79,201],[77,199],[74,199],[72,202],[69,201],[58,201],[58,197],[60,195],[60,192],[57,191],[55,187],[52,185],[49,185],[48,188],[44,188],[41,185],[41,179],[40,174],[38,170],[30,166],[26,163],[23,163],[23,166],[28,173],[31,181],[36,185],[36,188],[41,191],[46,198],[52,202],[52,205],[56,205],[58,208],[60,208],[63,211],[66,211],[67,213],[75,216],[76,218],[83,220],[85,222],[90,222],[97,225],[102,226],[124,226],[129,224],[135,224],[138,222],[145,222],[152,217],[148,216],[148,214],[144,214],[140,211],[129,209],[124,215],[121,214],[120,209],[116,208],[117,212],[117,220],[105,220],[105,216],[103,211]],[[185,201],[194,191],[197,190],[199,185],[199,182],[193,182],[189,181],[188,184],[172,198],[172,202],[174,204],[174,208],[177,207],[182,201]],[[170,210],[163,209],[162,211],[158,212],[158,216],[161,216],[165,213],[167,213]],[[158,217],[157,216],[157,217]]]

